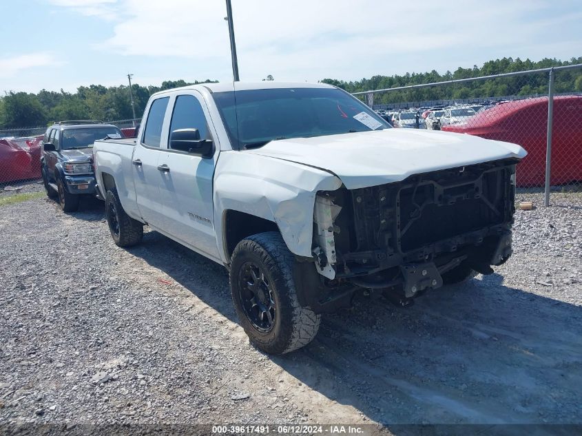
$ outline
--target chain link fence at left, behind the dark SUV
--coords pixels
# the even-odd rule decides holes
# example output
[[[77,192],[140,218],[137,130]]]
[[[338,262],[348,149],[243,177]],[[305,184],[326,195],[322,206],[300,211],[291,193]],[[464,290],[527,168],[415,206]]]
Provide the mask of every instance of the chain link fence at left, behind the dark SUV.
[[[107,121],[121,129],[124,136],[135,134],[141,119]],[[28,191],[26,185],[40,182],[41,145],[48,127],[0,129],[0,192]]]

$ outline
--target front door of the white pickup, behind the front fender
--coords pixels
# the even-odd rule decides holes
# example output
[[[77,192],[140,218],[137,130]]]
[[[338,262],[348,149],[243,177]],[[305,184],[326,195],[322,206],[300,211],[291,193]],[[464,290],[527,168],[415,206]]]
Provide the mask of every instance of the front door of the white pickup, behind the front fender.
[[[160,183],[165,222],[163,230],[207,256],[218,258],[212,200],[212,180],[218,152],[209,158],[172,149],[169,136],[177,129],[198,129],[200,139],[216,134],[202,95],[195,90],[175,94],[170,102],[172,118],[167,132],[167,149],[158,165],[165,168]],[[216,144],[218,149],[218,144]]]

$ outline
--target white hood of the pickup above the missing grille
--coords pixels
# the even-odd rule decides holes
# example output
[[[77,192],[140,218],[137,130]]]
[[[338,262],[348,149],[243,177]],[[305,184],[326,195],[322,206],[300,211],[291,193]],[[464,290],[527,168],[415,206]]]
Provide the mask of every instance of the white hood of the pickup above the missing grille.
[[[259,154],[335,174],[348,189],[404,180],[413,174],[505,158],[523,158],[519,145],[450,132],[384,129],[271,141]]]

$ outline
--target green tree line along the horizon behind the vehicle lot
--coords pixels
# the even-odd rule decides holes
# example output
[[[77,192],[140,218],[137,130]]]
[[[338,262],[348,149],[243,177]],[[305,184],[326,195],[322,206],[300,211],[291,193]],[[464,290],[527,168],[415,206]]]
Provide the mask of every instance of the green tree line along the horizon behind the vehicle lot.
[[[490,76],[506,72],[537,70],[561,65],[582,63],[582,56],[570,61],[557,59],[542,59],[538,62],[526,59],[503,58],[484,63],[481,68],[457,68],[455,72],[447,71],[439,74],[433,70],[424,73],[394,74],[392,76],[373,76],[360,81],[343,81],[338,79],[323,79],[323,83],[336,85],[348,92],[380,90],[407,85],[419,85],[453,79]],[[267,80],[273,80],[267,76]],[[216,83],[216,81],[185,82],[165,81],[161,86],[132,85],[132,93],[136,116],[141,116],[150,95],[161,90],[192,85],[196,83]],[[582,91],[582,70],[565,70],[555,74],[554,92]],[[454,85],[425,87],[415,90],[402,90],[377,94],[375,104],[403,103],[412,101],[450,100],[461,98],[486,98],[497,96],[529,96],[544,95],[548,92],[548,74],[537,73],[525,76],[504,77],[472,81]],[[37,127],[47,125],[52,121],[74,119],[97,119],[102,121],[118,121],[131,119],[132,105],[129,99],[127,85],[105,87],[103,85],[81,86],[76,92],[54,92],[41,90],[37,94],[26,92],[8,92],[0,98],[0,129],[19,127]]]

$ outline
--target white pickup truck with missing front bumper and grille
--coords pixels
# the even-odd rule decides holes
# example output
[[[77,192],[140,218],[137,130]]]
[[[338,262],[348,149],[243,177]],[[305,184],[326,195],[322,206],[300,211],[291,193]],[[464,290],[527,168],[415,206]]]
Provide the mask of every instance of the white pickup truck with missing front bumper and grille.
[[[96,141],[120,247],[143,225],[225,265],[240,323],[269,353],[308,344],[358,290],[408,304],[511,253],[519,145],[393,129],[306,83],[152,95],[136,138]]]

